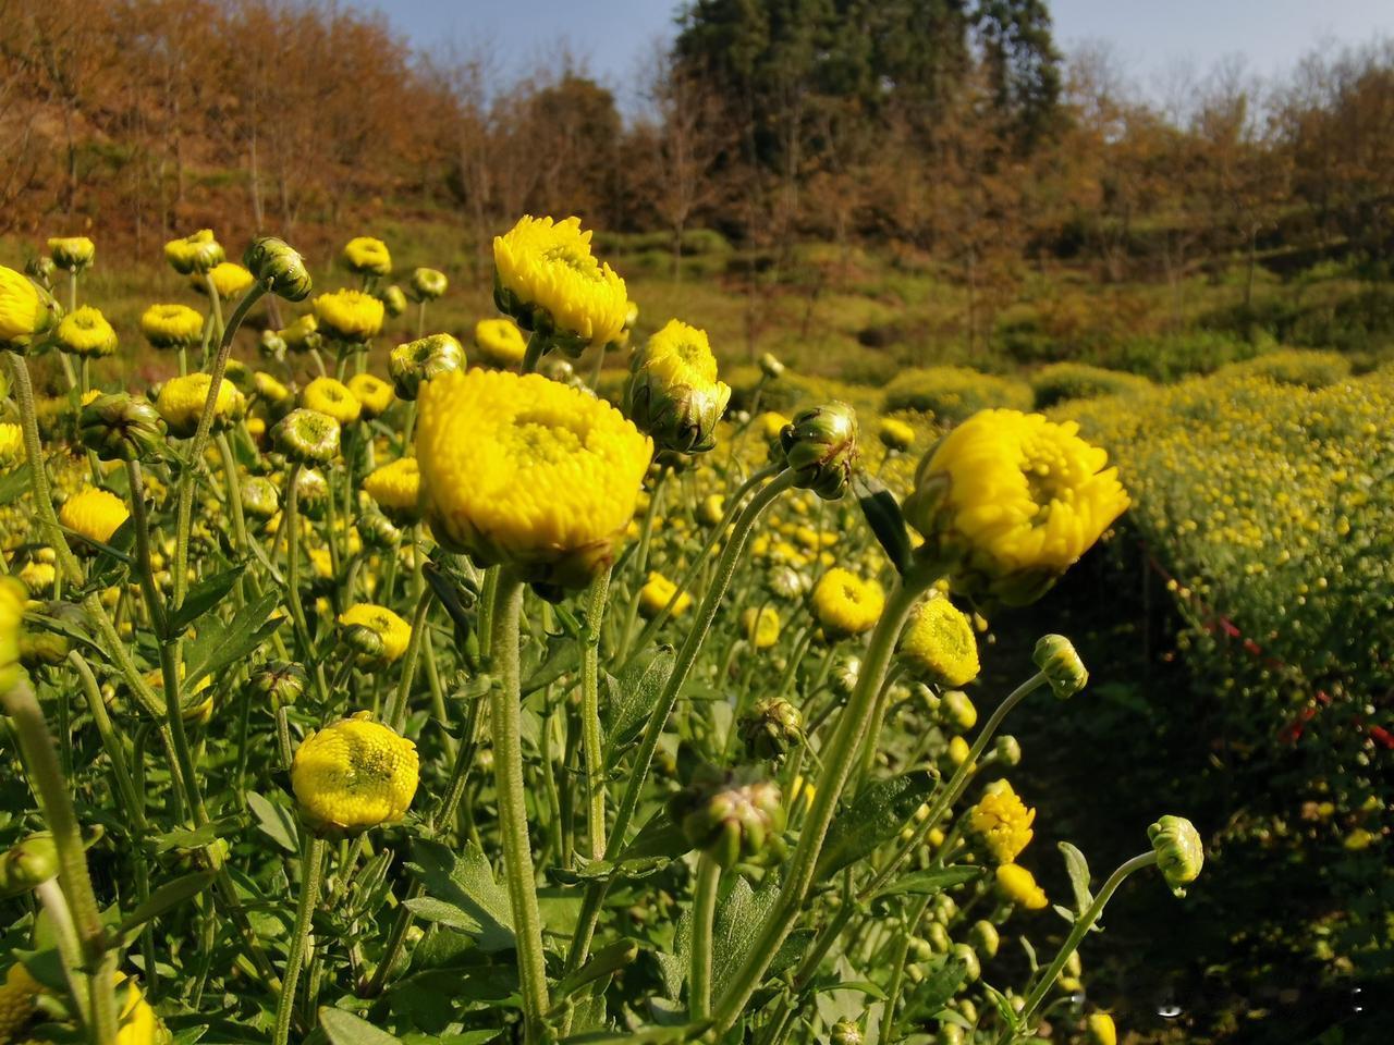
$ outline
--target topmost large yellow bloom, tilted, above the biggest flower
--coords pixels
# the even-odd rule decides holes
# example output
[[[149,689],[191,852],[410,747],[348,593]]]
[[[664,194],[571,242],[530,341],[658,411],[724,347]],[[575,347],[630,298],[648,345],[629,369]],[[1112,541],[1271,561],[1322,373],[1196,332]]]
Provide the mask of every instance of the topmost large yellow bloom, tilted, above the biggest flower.
[[[602,346],[625,329],[625,280],[591,254],[591,233],[579,217],[520,219],[493,240],[493,279],[500,311],[527,329],[576,347]]]

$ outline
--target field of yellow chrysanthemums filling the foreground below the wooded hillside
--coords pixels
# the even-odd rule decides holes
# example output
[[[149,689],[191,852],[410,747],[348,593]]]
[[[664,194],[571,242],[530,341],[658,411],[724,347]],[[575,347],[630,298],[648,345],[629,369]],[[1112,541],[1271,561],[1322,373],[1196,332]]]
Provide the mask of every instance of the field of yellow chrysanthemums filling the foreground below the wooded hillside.
[[[1092,929],[1202,836],[1032,844],[1012,713],[1090,670],[995,628],[1138,548],[1280,784],[1214,840],[1388,888],[1390,371],[737,378],[576,219],[454,333],[382,241],[227,254],[138,329],[89,240],[0,268],[0,1044],[1112,1045]]]

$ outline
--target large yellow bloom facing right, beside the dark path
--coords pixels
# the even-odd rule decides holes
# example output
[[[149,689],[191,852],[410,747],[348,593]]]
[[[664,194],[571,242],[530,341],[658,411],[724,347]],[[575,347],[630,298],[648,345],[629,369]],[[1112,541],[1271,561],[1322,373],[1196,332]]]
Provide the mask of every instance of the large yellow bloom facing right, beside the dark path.
[[[1124,513],[1118,470],[1078,432],[1073,421],[984,410],[926,456],[905,514],[955,588],[1032,602]]]

